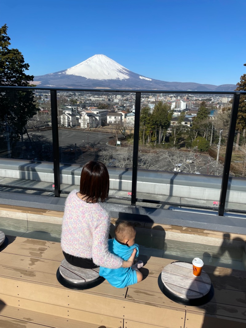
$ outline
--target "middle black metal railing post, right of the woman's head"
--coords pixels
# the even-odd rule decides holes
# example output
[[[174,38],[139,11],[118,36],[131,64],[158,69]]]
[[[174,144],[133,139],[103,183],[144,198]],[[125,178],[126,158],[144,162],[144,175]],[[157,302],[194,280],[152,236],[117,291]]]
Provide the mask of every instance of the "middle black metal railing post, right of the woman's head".
[[[136,92],[134,139],[133,139],[132,198],[131,198],[131,203],[134,206],[136,205],[136,191],[137,191],[137,161],[138,161],[138,144],[139,144],[140,106],[141,106],[141,92]]]

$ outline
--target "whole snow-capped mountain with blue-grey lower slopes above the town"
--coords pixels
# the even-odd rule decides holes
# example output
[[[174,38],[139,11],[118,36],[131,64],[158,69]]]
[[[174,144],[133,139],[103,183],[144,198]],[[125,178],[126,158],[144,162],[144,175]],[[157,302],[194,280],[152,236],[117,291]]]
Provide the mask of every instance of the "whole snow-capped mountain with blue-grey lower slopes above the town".
[[[232,91],[234,84],[199,84],[154,80],[129,71],[105,55],[94,55],[64,71],[35,76],[39,87],[114,89],[114,90],[198,90]]]

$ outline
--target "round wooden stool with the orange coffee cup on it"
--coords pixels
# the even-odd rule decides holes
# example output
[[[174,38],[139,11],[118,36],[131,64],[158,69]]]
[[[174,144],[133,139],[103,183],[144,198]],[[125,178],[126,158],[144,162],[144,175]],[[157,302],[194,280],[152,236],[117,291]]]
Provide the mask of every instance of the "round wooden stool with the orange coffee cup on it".
[[[200,277],[193,275],[193,265],[186,262],[173,262],[161,272],[160,289],[163,294],[177,303],[201,305],[213,297],[213,285],[204,270]]]

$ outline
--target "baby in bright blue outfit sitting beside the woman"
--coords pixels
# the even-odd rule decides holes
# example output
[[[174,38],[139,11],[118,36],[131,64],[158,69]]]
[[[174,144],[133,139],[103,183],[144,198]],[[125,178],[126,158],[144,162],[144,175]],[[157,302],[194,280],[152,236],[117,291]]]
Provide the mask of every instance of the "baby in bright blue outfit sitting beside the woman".
[[[136,256],[139,254],[139,246],[134,244],[136,230],[132,223],[120,222],[115,228],[115,238],[109,239],[109,251],[120,256],[123,260],[128,260],[136,248]],[[99,275],[106,278],[108,282],[117,288],[124,288],[136,284],[143,279],[143,275],[138,270],[143,266],[142,261],[138,261],[130,268],[108,269],[100,267]]]

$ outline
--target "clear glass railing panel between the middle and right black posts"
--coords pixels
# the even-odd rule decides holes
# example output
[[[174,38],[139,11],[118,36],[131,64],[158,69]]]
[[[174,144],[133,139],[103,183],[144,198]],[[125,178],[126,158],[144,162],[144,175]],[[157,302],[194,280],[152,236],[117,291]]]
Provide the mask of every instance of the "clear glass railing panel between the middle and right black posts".
[[[137,198],[166,208],[172,204],[218,209],[231,98],[142,96]]]

